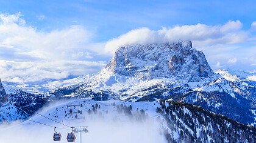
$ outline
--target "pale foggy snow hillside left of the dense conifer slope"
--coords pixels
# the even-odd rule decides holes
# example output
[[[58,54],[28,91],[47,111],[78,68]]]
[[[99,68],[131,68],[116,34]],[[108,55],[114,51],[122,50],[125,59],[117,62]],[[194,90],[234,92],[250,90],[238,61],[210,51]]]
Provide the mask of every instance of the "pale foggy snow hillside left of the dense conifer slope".
[[[60,142],[66,142],[66,134],[72,130],[65,125],[88,126],[89,133],[82,133],[83,142],[167,142],[165,136],[160,133],[160,123],[155,120],[157,116],[161,116],[156,112],[157,107],[161,107],[158,102],[94,101],[91,99],[59,101],[44,107],[40,115],[35,115],[21,124],[15,124],[13,128],[9,127],[3,132],[5,136],[9,136],[13,130],[21,128],[24,132],[17,136],[22,143],[31,141],[31,138],[37,142],[52,142],[54,128],[42,125],[47,124],[57,127],[56,131],[62,134]],[[36,131],[32,133],[31,130],[35,128]],[[31,137],[27,138],[29,136],[27,134]],[[79,142],[79,134],[76,136],[76,142]],[[2,137],[0,130],[0,138]],[[3,141],[11,143],[16,142],[17,139],[4,138]]]

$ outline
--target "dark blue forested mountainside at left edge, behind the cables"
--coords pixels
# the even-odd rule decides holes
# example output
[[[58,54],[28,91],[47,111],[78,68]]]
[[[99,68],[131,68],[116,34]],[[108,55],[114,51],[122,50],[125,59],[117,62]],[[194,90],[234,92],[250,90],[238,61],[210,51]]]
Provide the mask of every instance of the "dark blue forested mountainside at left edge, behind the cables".
[[[19,119],[16,116],[28,118],[45,103],[46,100],[42,95],[27,93],[8,85],[3,86],[0,79],[0,111],[7,112],[0,113],[0,122],[15,121]],[[9,116],[8,113],[16,116]]]

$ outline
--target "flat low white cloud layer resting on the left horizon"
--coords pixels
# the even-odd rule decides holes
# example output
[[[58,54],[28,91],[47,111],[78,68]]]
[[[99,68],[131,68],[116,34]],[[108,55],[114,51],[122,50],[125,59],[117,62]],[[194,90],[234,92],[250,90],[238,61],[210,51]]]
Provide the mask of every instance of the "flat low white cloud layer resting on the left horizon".
[[[23,83],[96,73],[105,64],[105,62],[89,61],[13,62],[0,60],[0,73],[2,81]]]

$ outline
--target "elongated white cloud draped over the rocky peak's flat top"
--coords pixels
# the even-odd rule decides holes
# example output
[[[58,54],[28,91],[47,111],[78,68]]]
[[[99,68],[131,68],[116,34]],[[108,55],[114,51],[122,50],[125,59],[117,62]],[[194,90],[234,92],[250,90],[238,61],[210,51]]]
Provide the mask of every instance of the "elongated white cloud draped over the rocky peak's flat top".
[[[247,33],[241,30],[242,27],[240,21],[228,21],[224,25],[176,25],[172,28],[162,27],[157,31],[139,28],[108,41],[105,51],[113,54],[120,45],[163,43],[180,39],[191,40],[197,47],[235,44],[247,39]]]

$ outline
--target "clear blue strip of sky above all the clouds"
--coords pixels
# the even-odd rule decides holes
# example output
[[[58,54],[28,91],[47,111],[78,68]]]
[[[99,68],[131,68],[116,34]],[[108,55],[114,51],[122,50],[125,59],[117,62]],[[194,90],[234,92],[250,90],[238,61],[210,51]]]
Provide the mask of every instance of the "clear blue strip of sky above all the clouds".
[[[23,14],[27,24],[49,31],[84,25],[98,34],[97,42],[134,28],[158,30],[172,25],[225,24],[240,20],[244,29],[255,21],[255,1],[1,1],[2,13]],[[38,21],[38,16],[44,19]]]

